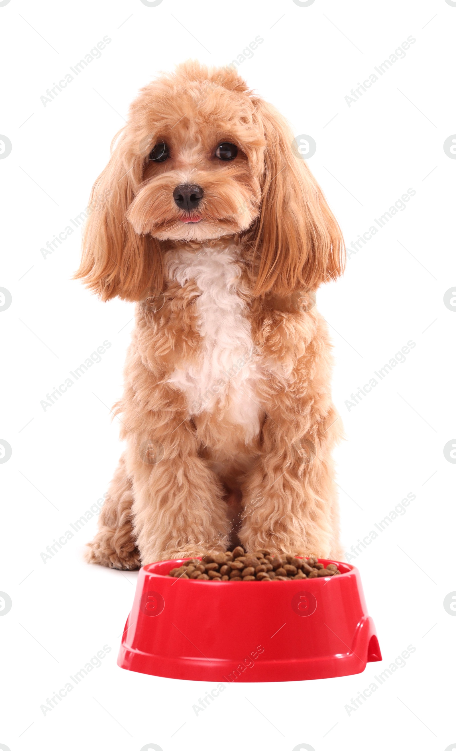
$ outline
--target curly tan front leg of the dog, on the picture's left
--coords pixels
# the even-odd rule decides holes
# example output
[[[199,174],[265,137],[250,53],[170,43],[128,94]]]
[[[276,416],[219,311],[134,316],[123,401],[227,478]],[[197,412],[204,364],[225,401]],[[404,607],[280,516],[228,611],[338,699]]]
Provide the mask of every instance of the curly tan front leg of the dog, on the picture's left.
[[[174,420],[177,422],[177,419]],[[222,484],[198,456],[188,420],[131,440],[134,534],[142,564],[226,550],[229,523]]]

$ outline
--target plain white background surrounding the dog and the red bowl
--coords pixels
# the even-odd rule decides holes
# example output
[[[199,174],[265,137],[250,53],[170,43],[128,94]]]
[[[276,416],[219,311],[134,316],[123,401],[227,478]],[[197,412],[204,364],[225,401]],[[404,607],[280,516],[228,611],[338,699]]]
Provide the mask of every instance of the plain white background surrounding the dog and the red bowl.
[[[3,4],[0,4],[3,5]],[[456,748],[454,627],[443,599],[456,590],[454,324],[443,295],[454,270],[454,173],[443,150],[456,132],[456,7],[445,0],[228,3],[11,0],[2,22],[0,160],[3,417],[12,457],[2,477],[2,576],[12,599],[0,618],[0,743],[22,749],[140,751]],[[46,107],[40,97],[105,36],[111,43]],[[100,303],[80,282],[80,234],[40,249],[84,210],[110,140],[140,86],[197,58],[240,65],[260,95],[317,144],[309,160],[347,246],[407,189],[406,210],[318,293],[331,326],[334,400],[346,428],[337,451],[347,551],[407,493],[416,498],[358,554],[384,661],[310,683],[229,685],[195,716],[208,683],[122,671],[119,635],[137,575],[83,562],[96,519],[46,563],[47,545],[102,496],[121,452],[110,407],[121,394],[133,306]],[[409,35],[399,59],[358,101],[345,97]],[[111,347],[52,407],[46,394],[107,339]],[[415,348],[373,391],[346,400],[406,342]],[[243,614],[240,613],[240,620]],[[248,624],[243,627],[248,628]],[[40,705],[107,644],[110,653],[57,707]],[[399,668],[355,712],[345,705],[412,644]],[[252,707],[252,704],[257,707]],[[261,713],[258,711],[261,710]],[[4,746],[0,746],[4,748]]]

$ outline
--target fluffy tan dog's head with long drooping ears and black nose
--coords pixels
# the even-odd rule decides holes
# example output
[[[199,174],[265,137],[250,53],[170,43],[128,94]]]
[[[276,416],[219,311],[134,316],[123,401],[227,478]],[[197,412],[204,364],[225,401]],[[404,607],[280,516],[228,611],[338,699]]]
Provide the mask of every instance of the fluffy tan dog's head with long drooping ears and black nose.
[[[285,121],[230,68],[178,66],[141,90],[92,189],[77,278],[103,300],[163,285],[177,242],[242,236],[255,294],[315,290],[343,239]]]

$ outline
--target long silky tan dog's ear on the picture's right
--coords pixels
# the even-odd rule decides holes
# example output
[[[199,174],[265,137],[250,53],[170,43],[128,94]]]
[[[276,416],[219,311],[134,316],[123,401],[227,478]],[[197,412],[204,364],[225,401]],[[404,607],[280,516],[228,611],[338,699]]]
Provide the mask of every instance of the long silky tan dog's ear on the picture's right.
[[[258,269],[255,294],[314,291],[343,273],[342,232],[285,120],[260,99],[255,116],[266,140],[261,213],[246,237]]]

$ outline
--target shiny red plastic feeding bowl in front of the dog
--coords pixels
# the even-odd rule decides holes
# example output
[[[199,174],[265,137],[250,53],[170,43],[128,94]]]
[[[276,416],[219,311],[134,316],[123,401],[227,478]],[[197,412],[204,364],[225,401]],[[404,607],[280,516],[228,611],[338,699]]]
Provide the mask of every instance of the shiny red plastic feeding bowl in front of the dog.
[[[314,680],[382,659],[361,577],[213,582],[165,576],[179,561],[140,569],[117,664],[184,680]]]

